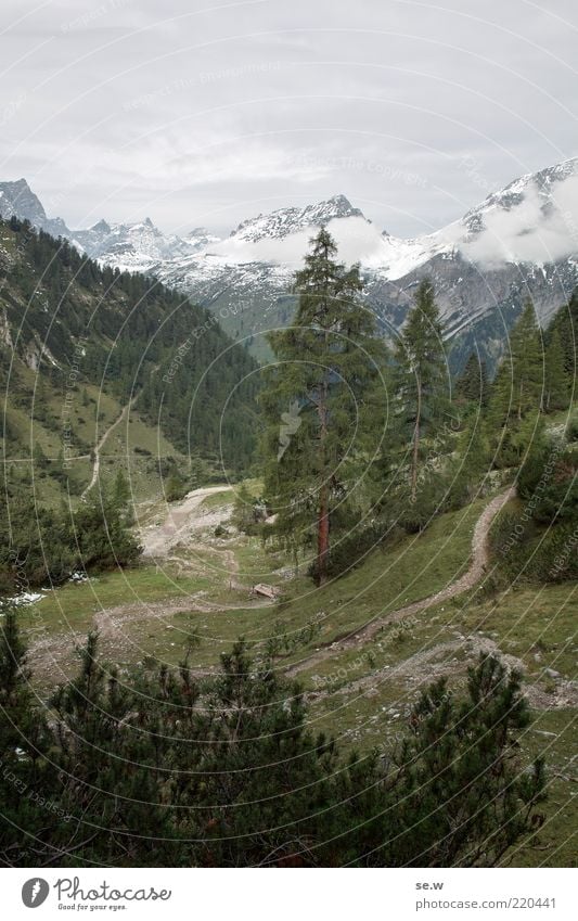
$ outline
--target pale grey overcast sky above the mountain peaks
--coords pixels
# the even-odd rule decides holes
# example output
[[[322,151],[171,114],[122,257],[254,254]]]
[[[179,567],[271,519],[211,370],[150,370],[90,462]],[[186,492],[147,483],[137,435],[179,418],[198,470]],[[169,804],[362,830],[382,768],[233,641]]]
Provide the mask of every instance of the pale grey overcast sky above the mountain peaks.
[[[183,233],[342,192],[411,236],[578,154],[575,0],[1,0],[0,180]]]

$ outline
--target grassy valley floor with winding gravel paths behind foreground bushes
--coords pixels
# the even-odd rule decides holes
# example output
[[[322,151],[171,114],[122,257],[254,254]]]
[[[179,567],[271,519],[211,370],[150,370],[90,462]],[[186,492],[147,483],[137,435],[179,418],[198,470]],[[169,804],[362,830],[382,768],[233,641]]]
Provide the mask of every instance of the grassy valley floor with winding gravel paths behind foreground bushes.
[[[170,507],[143,504],[140,567],[68,584],[21,609],[36,685],[46,693],[70,676],[75,645],[91,628],[103,655],[121,666],[150,656],[175,664],[189,651],[198,676],[244,636],[257,651],[277,644],[279,668],[304,686],[312,729],[346,746],[386,750],[420,688],[441,676],[463,686],[480,652],[499,652],[524,673],[536,715],[523,753],[541,753],[550,765],[545,824],[508,860],[574,866],[578,585],[489,590],[488,529],[510,498],[504,490],[442,515],[321,589],[227,524],[229,487],[195,490]],[[279,601],[251,596],[264,581],[280,589]]]

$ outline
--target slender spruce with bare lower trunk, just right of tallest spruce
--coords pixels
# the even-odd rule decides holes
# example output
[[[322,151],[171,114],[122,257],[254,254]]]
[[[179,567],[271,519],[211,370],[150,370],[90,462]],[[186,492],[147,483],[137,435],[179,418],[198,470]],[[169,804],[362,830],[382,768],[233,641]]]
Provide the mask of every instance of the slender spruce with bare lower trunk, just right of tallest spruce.
[[[410,487],[415,501],[424,434],[435,435],[448,409],[444,327],[434,286],[424,280],[396,348],[397,400],[401,436],[411,444]]]

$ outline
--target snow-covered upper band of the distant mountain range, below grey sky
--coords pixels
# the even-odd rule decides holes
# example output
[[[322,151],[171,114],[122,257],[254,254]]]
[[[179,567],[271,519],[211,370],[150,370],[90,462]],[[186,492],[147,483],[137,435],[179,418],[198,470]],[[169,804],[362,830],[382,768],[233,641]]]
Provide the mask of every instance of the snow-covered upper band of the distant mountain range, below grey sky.
[[[459,253],[486,269],[508,264],[539,266],[578,253],[578,158],[528,174],[472,208],[441,230],[401,240],[382,233],[345,195],[307,205],[280,208],[243,221],[222,240],[205,228],[185,236],[164,234],[150,218],[138,223],[108,225],[69,231],[60,218],[48,218],[26,180],[0,183],[0,214],[30,220],[54,235],[68,236],[92,258],[130,271],[154,272],[195,282],[226,268],[278,266],[294,271],[303,265],[311,236],[324,225],[335,238],[339,258],[397,281],[436,256]]]

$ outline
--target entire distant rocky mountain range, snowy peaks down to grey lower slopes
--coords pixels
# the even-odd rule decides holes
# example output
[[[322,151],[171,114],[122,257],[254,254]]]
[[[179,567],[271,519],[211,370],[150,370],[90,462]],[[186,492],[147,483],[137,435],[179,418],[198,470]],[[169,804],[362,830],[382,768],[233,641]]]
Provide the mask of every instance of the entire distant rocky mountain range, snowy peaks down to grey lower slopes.
[[[165,235],[149,218],[73,232],[47,218],[25,180],[0,183],[0,214],[26,217],[102,263],[182,290],[264,355],[265,331],[291,322],[293,273],[322,225],[339,257],[359,261],[367,303],[393,335],[416,284],[432,279],[447,336],[458,345],[454,361],[476,346],[496,359],[528,297],[545,323],[578,284],[578,158],[516,179],[461,220],[413,240],[382,232],[345,195],[258,215],[221,240],[205,228]]]

